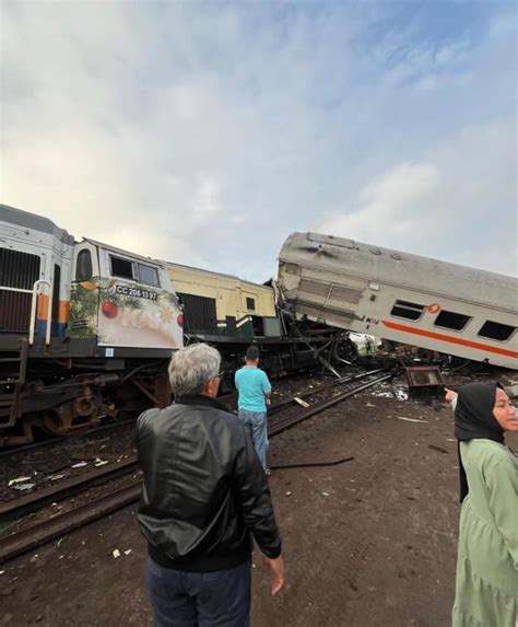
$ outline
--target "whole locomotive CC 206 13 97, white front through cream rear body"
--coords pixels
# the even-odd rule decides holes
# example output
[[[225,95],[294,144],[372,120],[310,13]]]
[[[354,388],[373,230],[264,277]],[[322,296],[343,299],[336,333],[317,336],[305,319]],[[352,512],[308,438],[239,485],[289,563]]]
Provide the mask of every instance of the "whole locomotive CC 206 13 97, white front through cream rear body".
[[[69,436],[166,405],[185,342],[216,346],[229,371],[255,342],[275,376],[332,369],[343,336],[280,312],[271,286],[76,242],[0,205],[0,446],[31,442],[34,427]]]

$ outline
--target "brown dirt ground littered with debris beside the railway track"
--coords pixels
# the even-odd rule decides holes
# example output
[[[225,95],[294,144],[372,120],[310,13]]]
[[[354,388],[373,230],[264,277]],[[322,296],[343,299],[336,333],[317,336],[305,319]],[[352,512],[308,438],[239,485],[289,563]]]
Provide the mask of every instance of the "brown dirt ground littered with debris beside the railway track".
[[[354,460],[272,473],[286,583],[272,599],[255,569],[254,627],[449,625],[459,514],[452,415],[440,402],[377,394],[271,442],[272,465]],[[144,559],[134,507],[126,508],[0,567],[0,625],[150,625]]]

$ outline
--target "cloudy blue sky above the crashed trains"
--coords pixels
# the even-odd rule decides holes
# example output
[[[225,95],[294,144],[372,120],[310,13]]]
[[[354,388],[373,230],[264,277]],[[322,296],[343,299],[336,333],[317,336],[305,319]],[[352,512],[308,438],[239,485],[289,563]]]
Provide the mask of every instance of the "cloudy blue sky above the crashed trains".
[[[294,231],[516,276],[517,15],[4,1],[0,201],[259,282]]]

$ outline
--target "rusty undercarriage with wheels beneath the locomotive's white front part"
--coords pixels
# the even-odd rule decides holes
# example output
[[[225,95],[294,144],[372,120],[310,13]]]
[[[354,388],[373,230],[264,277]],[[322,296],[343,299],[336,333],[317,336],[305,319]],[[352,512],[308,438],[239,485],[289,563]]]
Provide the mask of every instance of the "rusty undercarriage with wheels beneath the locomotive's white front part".
[[[154,359],[139,357],[138,350],[106,359],[95,356],[101,350],[92,342],[78,347],[56,340],[45,350],[28,349],[19,338],[17,346],[0,357],[0,446],[33,442],[38,431],[76,434],[105,418],[136,416],[170,399],[169,351],[156,351],[163,356]],[[66,350],[73,357],[64,357]]]

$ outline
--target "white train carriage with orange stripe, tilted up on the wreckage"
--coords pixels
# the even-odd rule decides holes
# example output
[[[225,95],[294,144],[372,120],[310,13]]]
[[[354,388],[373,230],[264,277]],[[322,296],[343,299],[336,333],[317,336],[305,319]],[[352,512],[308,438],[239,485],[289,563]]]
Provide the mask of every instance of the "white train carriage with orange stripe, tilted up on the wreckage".
[[[297,318],[518,370],[516,278],[293,233],[276,285]]]

